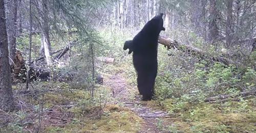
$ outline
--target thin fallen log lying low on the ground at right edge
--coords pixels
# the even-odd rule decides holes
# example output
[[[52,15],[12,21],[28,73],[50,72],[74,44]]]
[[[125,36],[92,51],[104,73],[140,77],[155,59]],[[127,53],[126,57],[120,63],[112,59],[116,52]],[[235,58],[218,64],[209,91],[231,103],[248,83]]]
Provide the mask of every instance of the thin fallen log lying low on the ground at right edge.
[[[226,101],[226,99],[228,98],[232,98],[233,100],[237,100],[238,96],[249,96],[249,95],[256,95],[256,89],[250,90],[250,91],[244,91],[244,92],[240,92],[237,95],[218,95],[218,96],[213,96],[213,97],[209,97],[206,98],[204,101],[205,102],[212,102],[212,101]]]

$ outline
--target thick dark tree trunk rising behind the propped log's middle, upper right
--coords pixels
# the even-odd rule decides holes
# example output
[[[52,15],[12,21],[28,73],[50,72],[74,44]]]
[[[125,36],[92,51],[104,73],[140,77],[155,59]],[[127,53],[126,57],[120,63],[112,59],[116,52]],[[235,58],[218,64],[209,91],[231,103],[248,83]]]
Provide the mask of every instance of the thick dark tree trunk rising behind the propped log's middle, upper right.
[[[217,29],[217,3],[216,0],[210,0],[210,9],[209,9],[209,32],[208,32],[208,41],[212,44],[217,40],[218,29]],[[216,46],[217,48],[217,46]]]

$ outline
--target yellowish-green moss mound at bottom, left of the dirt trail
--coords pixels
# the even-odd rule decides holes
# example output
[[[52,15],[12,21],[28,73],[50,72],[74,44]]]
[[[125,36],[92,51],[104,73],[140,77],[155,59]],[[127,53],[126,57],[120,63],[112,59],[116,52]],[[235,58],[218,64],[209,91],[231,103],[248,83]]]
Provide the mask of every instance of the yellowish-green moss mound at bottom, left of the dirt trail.
[[[72,109],[81,113],[79,108]],[[80,116],[63,128],[47,127],[45,132],[138,132],[143,119],[127,108],[117,105],[106,105],[100,118]]]

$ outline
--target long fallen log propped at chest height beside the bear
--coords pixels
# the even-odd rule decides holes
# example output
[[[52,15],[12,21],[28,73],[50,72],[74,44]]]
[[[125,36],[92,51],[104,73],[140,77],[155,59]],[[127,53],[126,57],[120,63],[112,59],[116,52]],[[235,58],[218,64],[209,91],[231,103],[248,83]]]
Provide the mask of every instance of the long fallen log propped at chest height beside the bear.
[[[221,56],[209,55],[207,52],[203,51],[202,49],[199,49],[197,47],[190,46],[190,45],[181,44],[178,41],[176,41],[174,39],[170,39],[168,37],[159,36],[158,42],[160,44],[163,44],[164,46],[167,46],[168,49],[173,48],[173,49],[177,49],[177,50],[188,51],[189,54],[191,54],[191,55],[199,55],[202,58],[210,59],[212,61],[222,62],[225,65],[234,64],[237,66],[242,66],[242,64],[240,64],[239,62],[234,62],[232,60],[229,60],[229,59],[227,59],[225,57],[221,57]]]

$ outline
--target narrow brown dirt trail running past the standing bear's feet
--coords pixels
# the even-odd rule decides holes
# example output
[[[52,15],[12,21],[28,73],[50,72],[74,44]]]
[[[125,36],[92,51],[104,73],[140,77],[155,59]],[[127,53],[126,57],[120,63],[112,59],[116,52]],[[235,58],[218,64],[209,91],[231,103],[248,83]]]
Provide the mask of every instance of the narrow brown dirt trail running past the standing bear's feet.
[[[141,101],[137,88],[131,87],[120,73],[106,78],[104,84],[112,89],[113,97],[117,103],[123,103],[124,107],[129,108],[145,120],[139,132],[162,132],[157,128],[157,118],[168,117],[168,114],[142,104],[145,101]]]

